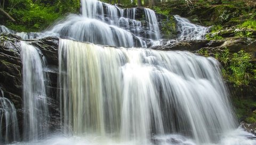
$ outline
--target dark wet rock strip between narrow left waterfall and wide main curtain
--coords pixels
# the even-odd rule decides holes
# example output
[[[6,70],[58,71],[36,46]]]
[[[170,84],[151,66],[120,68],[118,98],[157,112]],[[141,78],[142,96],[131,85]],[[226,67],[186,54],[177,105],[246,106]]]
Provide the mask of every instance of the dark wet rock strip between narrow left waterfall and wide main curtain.
[[[60,129],[60,108],[57,98],[58,85],[58,48],[59,38],[46,37],[36,40],[28,40],[30,45],[34,45],[39,49],[40,53],[46,59],[46,94],[49,103],[50,112],[50,130],[55,131]]]

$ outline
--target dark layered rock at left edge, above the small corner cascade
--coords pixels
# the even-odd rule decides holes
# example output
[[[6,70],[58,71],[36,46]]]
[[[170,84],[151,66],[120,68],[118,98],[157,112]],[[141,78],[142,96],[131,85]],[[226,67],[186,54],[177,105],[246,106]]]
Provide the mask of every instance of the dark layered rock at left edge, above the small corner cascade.
[[[0,34],[0,86],[17,109],[22,108],[20,40],[13,34]]]

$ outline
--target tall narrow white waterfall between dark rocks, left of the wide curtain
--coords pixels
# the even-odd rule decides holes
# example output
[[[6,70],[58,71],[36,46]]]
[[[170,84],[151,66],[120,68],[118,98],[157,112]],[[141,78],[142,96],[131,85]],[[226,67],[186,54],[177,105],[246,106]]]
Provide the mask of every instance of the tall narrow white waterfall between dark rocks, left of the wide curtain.
[[[49,130],[43,62],[36,47],[21,42],[23,78],[23,138],[38,140]]]

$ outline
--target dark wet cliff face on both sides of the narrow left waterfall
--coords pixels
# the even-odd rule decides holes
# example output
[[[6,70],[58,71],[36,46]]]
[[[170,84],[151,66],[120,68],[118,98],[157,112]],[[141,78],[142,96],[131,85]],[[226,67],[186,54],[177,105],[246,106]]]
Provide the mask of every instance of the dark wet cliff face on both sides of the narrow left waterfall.
[[[19,130],[22,134],[23,120],[23,96],[22,96],[22,60],[20,56],[23,41],[19,36],[13,34],[0,34],[0,88],[4,97],[13,102],[17,109]],[[44,68],[47,77],[47,101],[50,110],[50,128],[55,130],[60,126],[60,113],[57,99],[58,78],[58,45],[59,38],[43,38],[40,40],[27,41],[38,49],[38,53],[46,58],[47,64]]]

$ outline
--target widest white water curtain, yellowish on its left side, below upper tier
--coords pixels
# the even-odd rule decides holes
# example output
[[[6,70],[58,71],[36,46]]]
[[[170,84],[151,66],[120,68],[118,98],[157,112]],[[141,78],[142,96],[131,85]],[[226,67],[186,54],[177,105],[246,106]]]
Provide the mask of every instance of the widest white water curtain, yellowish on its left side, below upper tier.
[[[60,39],[63,127],[138,144],[182,133],[218,142],[236,122],[218,61],[189,52],[114,49]]]

